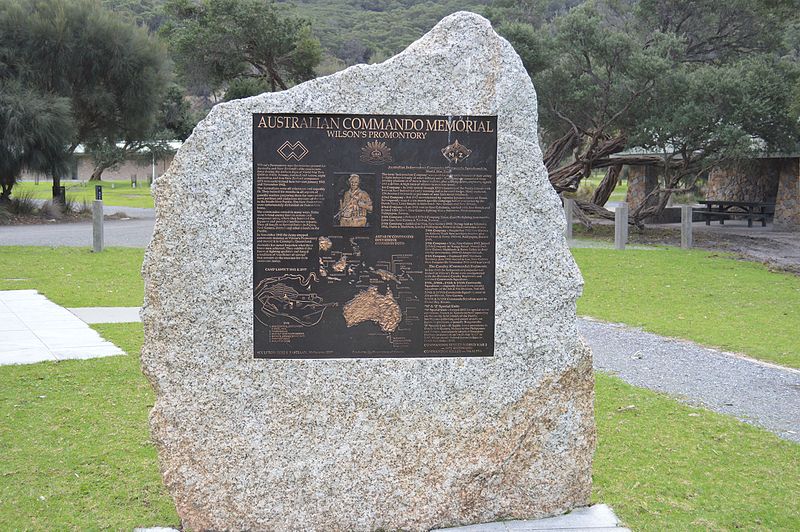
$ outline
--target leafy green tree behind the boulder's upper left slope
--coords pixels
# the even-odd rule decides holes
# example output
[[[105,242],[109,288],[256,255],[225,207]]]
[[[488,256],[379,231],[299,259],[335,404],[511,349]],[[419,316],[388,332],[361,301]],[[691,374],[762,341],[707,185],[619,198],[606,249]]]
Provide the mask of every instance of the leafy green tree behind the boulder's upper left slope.
[[[286,89],[314,77],[321,59],[308,23],[279,17],[267,0],[169,0],[165,10],[161,31],[190,89],[224,91],[247,79]]]

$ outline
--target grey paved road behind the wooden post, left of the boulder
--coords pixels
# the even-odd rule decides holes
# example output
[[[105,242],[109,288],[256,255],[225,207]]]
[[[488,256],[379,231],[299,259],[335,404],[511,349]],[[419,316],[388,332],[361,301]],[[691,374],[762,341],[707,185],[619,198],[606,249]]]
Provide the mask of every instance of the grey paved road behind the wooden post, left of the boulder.
[[[125,213],[129,220],[106,220],[103,233],[106,246],[146,247],[153,234],[154,209],[105,207],[106,215]],[[76,246],[92,245],[92,223],[0,226],[0,246]]]

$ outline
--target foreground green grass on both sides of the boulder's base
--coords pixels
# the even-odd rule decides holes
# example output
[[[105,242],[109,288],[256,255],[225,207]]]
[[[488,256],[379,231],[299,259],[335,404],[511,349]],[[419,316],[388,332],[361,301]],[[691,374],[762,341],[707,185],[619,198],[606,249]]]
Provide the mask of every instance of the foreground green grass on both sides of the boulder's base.
[[[140,324],[128,356],[0,367],[0,529],[178,525],[149,441]],[[596,502],[634,530],[791,529],[800,446],[598,375]]]

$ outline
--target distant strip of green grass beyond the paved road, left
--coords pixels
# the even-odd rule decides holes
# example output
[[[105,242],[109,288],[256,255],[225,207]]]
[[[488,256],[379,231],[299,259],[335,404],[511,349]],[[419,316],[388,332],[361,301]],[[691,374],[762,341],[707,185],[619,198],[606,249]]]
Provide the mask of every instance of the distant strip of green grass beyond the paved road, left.
[[[77,203],[86,202],[91,205],[94,201],[94,186],[103,186],[103,204],[116,207],[148,207],[153,208],[153,196],[146,180],[140,180],[136,188],[131,187],[130,181],[72,181],[62,180],[61,184],[67,189],[67,198]],[[113,186],[113,188],[112,188]],[[33,181],[23,181],[14,185],[12,196],[15,194],[29,193],[37,199],[53,198],[53,183],[42,180],[37,185]]]

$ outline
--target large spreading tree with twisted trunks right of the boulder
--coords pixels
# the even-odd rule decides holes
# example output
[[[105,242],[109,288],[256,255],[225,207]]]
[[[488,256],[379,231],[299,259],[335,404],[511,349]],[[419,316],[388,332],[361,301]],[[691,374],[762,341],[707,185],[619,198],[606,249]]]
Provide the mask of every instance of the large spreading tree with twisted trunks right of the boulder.
[[[779,53],[790,5],[596,0],[552,21],[528,12],[530,22],[501,24],[539,93],[555,189],[574,191],[605,169],[592,201],[579,206],[609,217],[602,205],[622,165],[658,166],[654,201],[631,213],[640,224],[710,166],[795,142],[786,87],[797,69]]]

